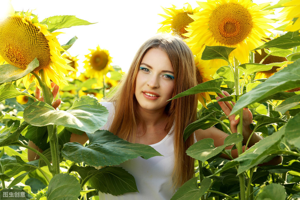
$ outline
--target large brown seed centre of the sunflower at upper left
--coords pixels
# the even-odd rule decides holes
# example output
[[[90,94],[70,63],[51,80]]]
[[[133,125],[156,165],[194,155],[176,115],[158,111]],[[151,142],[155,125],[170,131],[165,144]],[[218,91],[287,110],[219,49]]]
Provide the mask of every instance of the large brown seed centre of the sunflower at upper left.
[[[13,16],[0,23],[0,55],[21,69],[37,58],[40,65],[35,70],[40,70],[51,61],[48,40],[38,27],[26,22]]]

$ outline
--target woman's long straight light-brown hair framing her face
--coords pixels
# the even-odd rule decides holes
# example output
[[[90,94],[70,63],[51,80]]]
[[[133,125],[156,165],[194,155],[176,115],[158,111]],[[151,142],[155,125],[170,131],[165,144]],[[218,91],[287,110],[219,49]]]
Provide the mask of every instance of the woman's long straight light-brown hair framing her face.
[[[123,139],[134,139],[137,125],[143,124],[143,119],[137,112],[135,85],[141,60],[151,48],[159,48],[164,51],[172,63],[175,77],[173,97],[197,85],[193,54],[181,38],[163,34],[147,40],[137,51],[127,75],[109,100],[115,106],[115,115],[110,131]],[[189,95],[170,101],[165,110],[172,122],[171,125],[175,122],[173,133],[175,156],[173,182],[175,187],[180,187],[194,174],[194,159],[185,153],[187,148],[194,143],[194,135],[192,134],[184,142],[183,132],[188,124],[196,120],[196,109],[196,95]]]

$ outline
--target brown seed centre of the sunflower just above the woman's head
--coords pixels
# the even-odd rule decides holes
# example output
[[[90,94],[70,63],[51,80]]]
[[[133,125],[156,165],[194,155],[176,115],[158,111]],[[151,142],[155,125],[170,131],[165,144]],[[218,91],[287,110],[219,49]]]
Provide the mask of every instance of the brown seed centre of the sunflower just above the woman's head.
[[[181,35],[183,33],[186,33],[187,31],[184,28],[186,28],[189,23],[194,21],[187,14],[192,14],[192,13],[189,12],[178,13],[176,16],[173,17],[171,28],[176,34]]]

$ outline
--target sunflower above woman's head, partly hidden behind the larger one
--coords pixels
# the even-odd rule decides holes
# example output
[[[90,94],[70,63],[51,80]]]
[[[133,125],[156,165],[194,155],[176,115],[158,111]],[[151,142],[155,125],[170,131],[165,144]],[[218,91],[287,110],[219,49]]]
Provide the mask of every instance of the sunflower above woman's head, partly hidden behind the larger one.
[[[192,18],[190,18],[190,16],[188,16],[188,14],[191,15],[199,12],[199,8],[193,10],[189,3],[186,4],[187,7],[183,7],[182,9],[176,9],[176,6],[174,5],[171,8],[163,8],[165,13],[167,13],[168,15],[158,14],[166,19],[163,22],[159,23],[162,24],[162,26],[158,29],[158,32],[170,33],[172,31],[176,35],[187,38],[182,34],[187,32],[185,30],[185,28],[187,28],[187,25],[190,22],[194,21]]]

